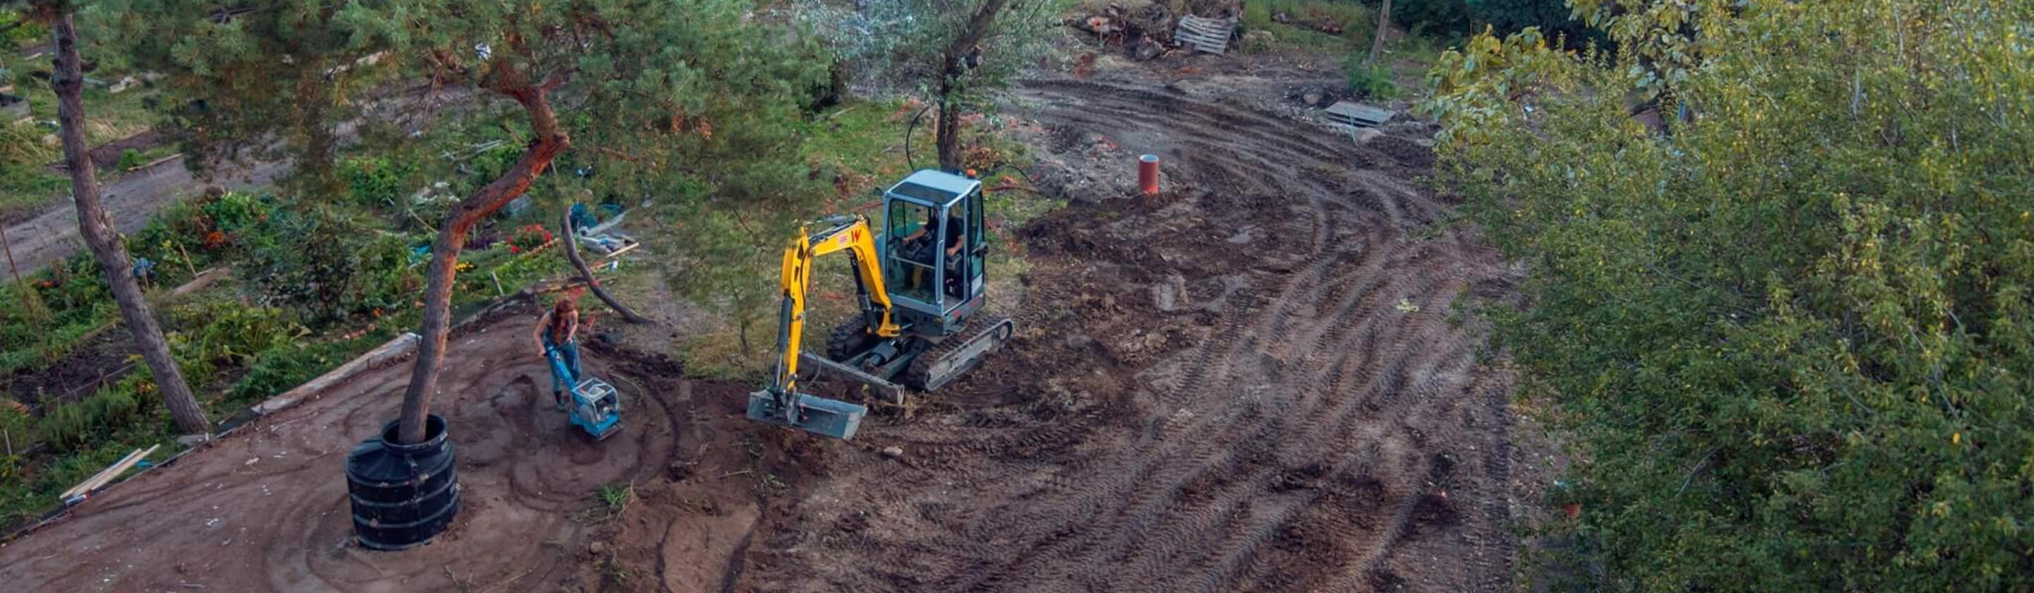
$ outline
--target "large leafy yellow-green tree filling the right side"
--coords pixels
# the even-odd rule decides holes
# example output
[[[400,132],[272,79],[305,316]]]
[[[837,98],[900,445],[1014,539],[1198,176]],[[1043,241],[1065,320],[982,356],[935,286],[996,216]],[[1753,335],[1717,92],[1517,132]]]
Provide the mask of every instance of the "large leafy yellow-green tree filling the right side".
[[[2024,589],[2034,4],[1660,4],[1615,55],[1479,37],[1426,106],[1534,266],[1491,315],[1576,449],[1578,579]],[[1690,116],[1635,122],[1660,79]]]

